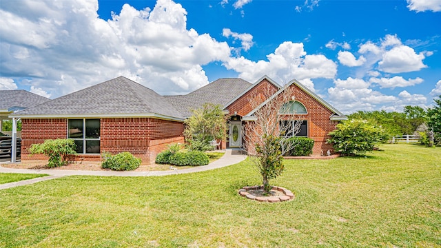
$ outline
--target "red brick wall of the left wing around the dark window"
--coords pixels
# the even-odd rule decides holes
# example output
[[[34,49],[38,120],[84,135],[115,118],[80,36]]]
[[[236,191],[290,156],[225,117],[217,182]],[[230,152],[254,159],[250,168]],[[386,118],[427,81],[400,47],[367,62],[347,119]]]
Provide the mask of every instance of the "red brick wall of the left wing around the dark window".
[[[22,119],[21,159],[47,160],[41,154],[30,156],[32,144],[46,139],[67,138],[68,119]],[[156,154],[170,143],[183,143],[183,123],[155,118],[101,118],[100,153],[130,152],[141,158],[143,163],[152,163]],[[99,154],[78,154],[76,161],[100,161]]]

